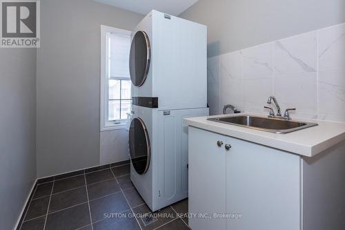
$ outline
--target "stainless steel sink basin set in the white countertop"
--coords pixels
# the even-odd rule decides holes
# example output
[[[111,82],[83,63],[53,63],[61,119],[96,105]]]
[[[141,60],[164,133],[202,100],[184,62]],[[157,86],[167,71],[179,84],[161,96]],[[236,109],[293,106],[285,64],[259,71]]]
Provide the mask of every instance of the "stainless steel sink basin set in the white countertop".
[[[253,129],[266,131],[270,133],[290,133],[293,131],[298,131],[303,128],[317,126],[316,123],[310,123],[310,122],[297,122],[297,121],[291,121],[287,119],[256,117],[256,116],[250,116],[250,115],[215,117],[215,118],[208,118],[208,120],[213,121],[213,122],[221,122],[224,124],[233,124],[236,126],[253,128]]]

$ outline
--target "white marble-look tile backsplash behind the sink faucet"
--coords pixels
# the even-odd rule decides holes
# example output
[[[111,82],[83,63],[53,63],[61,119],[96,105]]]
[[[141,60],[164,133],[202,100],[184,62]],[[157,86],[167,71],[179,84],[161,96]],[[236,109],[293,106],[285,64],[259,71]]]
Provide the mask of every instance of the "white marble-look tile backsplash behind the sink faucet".
[[[270,95],[292,117],[345,122],[345,23],[208,58],[211,115],[266,115]]]

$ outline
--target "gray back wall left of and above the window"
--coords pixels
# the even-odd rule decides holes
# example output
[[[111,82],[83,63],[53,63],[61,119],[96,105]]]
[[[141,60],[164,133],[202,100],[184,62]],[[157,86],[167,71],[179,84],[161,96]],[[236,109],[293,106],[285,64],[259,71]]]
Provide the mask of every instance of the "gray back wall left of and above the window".
[[[99,165],[101,24],[144,17],[92,0],[41,1],[37,52],[37,177]]]

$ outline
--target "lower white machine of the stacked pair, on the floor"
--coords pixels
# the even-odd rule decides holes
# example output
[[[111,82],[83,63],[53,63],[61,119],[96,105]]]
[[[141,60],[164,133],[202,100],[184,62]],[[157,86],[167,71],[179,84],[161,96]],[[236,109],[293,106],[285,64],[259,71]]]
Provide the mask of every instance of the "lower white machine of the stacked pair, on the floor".
[[[152,211],[188,197],[186,117],[208,115],[208,108],[160,111],[132,106],[129,131],[130,179]]]

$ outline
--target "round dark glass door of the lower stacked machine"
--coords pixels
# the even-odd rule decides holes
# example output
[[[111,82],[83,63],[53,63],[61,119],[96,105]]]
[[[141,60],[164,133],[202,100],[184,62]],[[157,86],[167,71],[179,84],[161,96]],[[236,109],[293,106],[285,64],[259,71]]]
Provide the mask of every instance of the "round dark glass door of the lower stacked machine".
[[[151,158],[150,139],[148,130],[142,119],[135,117],[130,122],[129,130],[130,160],[139,174],[148,171]]]

